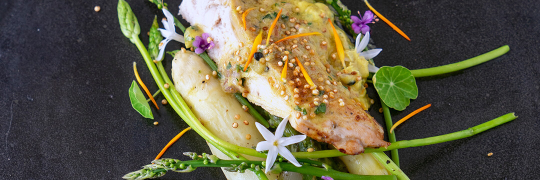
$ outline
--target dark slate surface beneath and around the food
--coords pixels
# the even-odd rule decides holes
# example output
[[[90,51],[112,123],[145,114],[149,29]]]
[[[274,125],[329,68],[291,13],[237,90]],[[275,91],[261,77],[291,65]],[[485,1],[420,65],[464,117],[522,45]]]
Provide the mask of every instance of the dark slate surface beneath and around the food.
[[[151,12],[129,1],[143,29]],[[151,91],[157,90],[136,47],[120,32],[116,1],[0,2],[1,179],[119,179],[137,170],[187,125],[165,106],[154,110],[158,126],[131,108],[127,89],[132,62]],[[168,1],[172,11],[179,2]],[[363,3],[345,1],[350,9]],[[100,5],[100,12],[93,11]],[[538,62],[539,1],[373,1],[388,25],[372,25],[381,65],[428,68],[510,45],[491,62],[448,75],[419,78],[419,97],[394,121],[428,103],[428,110],[396,129],[397,139],[463,130],[507,112],[519,116],[474,137],[400,150],[411,179],[535,179],[540,151]],[[176,13],[173,13],[176,14]],[[177,49],[179,44],[170,44]],[[166,61],[172,58],[167,55]],[[166,63],[170,69],[170,63]],[[376,96],[372,95],[376,99]],[[163,99],[159,96],[158,99]],[[375,105],[371,112],[380,122]],[[208,152],[194,131],[164,157]],[[488,157],[487,154],[494,155]],[[161,179],[224,179],[219,169]]]

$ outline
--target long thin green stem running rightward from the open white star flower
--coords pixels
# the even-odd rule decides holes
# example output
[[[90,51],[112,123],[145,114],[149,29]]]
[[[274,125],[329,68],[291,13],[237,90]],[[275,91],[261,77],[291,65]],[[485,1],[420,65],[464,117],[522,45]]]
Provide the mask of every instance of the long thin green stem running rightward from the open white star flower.
[[[417,147],[417,146],[424,146],[424,145],[431,145],[431,144],[437,144],[437,143],[444,143],[448,141],[454,141],[456,139],[462,139],[462,138],[476,135],[485,130],[494,128],[495,126],[510,122],[516,118],[517,116],[514,115],[514,112],[511,112],[509,114],[497,117],[495,119],[492,119],[491,121],[482,123],[480,125],[474,126],[473,128],[469,128],[466,130],[457,131],[457,132],[453,132],[446,135],[422,138],[422,139],[398,141],[398,142],[392,143],[392,145],[389,145],[386,148],[375,148],[375,149],[366,148],[364,152],[365,153],[383,152],[383,151],[389,151],[393,149],[402,149],[402,148]],[[343,154],[340,151],[335,150],[335,149],[313,151],[313,152],[293,152],[293,155],[296,158],[322,158],[322,157],[346,156],[346,154]]]

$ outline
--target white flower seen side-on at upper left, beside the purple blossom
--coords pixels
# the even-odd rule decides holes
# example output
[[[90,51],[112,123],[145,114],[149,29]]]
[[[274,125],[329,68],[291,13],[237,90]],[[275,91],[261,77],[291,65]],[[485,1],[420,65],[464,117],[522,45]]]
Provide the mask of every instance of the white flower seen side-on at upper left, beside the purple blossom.
[[[161,36],[165,37],[160,43],[159,43],[159,55],[156,58],[156,61],[161,61],[163,59],[163,54],[165,52],[165,46],[168,42],[171,40],[178,41],[180,43],[184,43],[184,36],[179,35],[176,33],[176,28],[174,27],[174,17],[172,16],[171,12],[167,11],[165,8],[161,9],[163,10],[163,14],[166,19],[161,19],[161,23],[163,23],[163,26],[165,29],[159,28],[159,32],[161,32]]]

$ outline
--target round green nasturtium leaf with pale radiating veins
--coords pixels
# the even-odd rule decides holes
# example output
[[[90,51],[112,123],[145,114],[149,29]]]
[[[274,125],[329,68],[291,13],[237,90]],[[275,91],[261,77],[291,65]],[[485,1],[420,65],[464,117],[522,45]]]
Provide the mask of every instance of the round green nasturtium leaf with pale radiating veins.
[[[404,110],[409,105],[409,99],[418,97],[413,74],[401,65],[382,66],[373,75],[373,84],[384,104],[396,110]]]

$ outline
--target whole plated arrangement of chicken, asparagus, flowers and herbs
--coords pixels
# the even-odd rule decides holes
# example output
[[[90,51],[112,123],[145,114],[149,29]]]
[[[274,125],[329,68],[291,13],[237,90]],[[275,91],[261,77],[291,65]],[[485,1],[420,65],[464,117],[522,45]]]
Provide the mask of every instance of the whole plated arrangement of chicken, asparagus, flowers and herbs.
[[[415,78],[465,69],[509,48],[435,68],[377,68],[373,58],[381,49],[366,48],[370,23],[380,18],[409,37],[367,1],[372,11],[358,16],[337,0],[183,1],[179,15],[191,24],[187,28],[166,3],[150,2],[165,18],[163,28],[154,19],[148,48],[138,38],[140,27],[129,4],[120,0],[122,32],[143,55],[168,104],[206,139],[212,155],[186,152],[193,161],[179,161],[161,159],[162,151],[125,179],[201,166],[221,167],[229,179],[408,179],[399,169],[397,149],[473,136],[516,118],[510,113],[468,130],[410,141],[396,142],[389,134],[384,141],[385,129],[392,132],[429,108],[395,124],[390,119],[390,108],[403,110],[417,97]],[[185,48],[169,52],[174,56],[171,80],[162,60],[173,40]],[[367,112],[379,103],[367,96],[368,88],[381,98],[386,128]],[[153,118],[135,82],[130,97],[134,109]],[[392,159],[383,153],[389,150]]]

